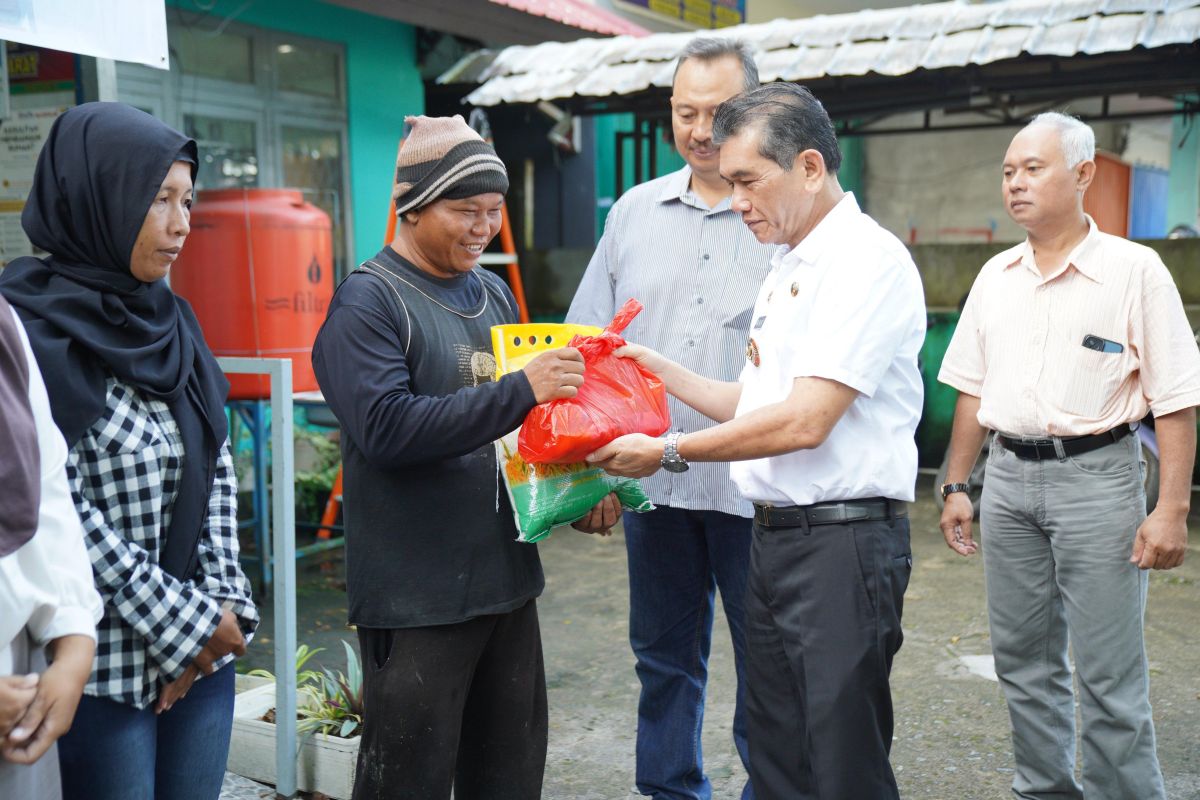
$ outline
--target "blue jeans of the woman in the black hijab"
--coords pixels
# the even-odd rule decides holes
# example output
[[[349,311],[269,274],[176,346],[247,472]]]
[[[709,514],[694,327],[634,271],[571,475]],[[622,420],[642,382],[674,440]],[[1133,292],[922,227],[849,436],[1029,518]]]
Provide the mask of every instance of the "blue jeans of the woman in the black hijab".
[[[192,684],[162,715],[102,697],[79,700],[59,739],[64,800],[217,800],[229,757],[234,668]]]

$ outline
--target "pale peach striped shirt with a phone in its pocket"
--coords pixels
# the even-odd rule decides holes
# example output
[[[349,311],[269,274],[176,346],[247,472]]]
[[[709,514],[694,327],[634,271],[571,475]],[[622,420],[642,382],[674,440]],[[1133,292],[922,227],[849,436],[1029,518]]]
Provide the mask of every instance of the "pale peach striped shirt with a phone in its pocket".
[[[937,379],[980,398],[985,428],[1081,437],[1200,404],[1200,351],[1171,273],[1148,247],[1087,225],[1048,276],[1028,240],[979,271]]]

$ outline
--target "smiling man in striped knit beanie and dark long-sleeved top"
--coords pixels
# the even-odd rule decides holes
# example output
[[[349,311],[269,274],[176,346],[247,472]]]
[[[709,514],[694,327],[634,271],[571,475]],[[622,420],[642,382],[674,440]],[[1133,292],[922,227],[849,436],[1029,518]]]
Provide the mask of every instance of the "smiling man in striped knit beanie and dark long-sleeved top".
[[[517,320],[479,257],[509,180],[461,116],[416,116],[396,160],[396,237],[337,288],[313,345],[342,425],[347,593],[366,711],[354,800],[535,800],[546,679],[535,546],[518,543],[492,443],[572,397],[578,350],[491,380]],[[474,368],[473,368],[474,367]],[[616,522],[608,522],[611,525]]]

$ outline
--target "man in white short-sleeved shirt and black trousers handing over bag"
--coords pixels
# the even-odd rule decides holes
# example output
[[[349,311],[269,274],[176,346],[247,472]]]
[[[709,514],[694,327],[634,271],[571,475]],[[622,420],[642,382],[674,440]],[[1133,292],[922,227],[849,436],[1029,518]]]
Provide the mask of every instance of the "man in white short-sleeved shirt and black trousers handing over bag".
[[[642,476],[734,462],[754,503],[746,596],[750,775],[761,800],[899,796],[888,676],[912,557],[925,335],[904,245],[838,184],[833,124],[806,89],[770,84],[716,112],[733,209],[782,245],[737,383],[630,345],[667,390],[721,422],[622,437],[590,459]]]

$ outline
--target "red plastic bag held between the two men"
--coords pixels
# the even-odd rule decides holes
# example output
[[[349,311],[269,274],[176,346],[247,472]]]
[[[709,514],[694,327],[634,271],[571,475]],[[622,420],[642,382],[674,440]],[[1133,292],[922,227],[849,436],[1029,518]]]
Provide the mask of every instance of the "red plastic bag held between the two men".
[[[671,427],[662,381],[632,359],[612,354],[625,345],[620,332],[642,311],[629,300],[599,336],[576,336],[570,345],[583,354],[580,393],[535,405],[517,437],[517,450],[530,464],[574,464],[617,437],[656,437]]]

